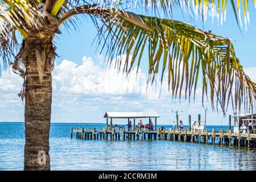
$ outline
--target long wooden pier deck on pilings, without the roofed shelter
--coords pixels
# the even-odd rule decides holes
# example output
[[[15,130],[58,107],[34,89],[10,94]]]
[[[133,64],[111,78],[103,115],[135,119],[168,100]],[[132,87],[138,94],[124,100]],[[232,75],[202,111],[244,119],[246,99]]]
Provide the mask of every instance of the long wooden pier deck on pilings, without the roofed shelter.
[[[205,132],[193,132],[187,131],[170,131],[162,130],[158,131],[125,131],[115,130],[87,130],[81,127],[81,129],[75,129],[71,127],[71,137],[73,133],[76,133],[77,139],[105,139],[105,140],[177,140],[184,142],[198,142],[198,143],[209,143],[209,144],[226,144],[229,146],[238,147],[254,147],[256,144],[256,134],[243,134],[233,133],[232,130],[218,130],[205,131]]]

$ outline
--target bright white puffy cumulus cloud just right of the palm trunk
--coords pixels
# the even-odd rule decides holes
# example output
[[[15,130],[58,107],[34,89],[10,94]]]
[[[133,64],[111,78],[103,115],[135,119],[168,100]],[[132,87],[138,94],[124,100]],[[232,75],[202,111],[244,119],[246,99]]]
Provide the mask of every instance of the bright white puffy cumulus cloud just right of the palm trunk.
[[[118,73],[114,65],[103,69],[91,57],[83,57],[81,65],[64,60],[53,71],[53,88],[62,93],[92,95],[145,92],[146,86],[141,81],[145,82],[146,75],[141,69],[138,74],[136,71],[134,68],[127,78],[125,74]]]

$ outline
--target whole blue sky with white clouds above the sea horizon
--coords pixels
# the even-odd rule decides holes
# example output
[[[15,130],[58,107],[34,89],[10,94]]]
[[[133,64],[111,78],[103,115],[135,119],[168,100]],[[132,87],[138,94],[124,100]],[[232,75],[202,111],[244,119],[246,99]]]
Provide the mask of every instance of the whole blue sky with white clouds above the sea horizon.
[[[200,20],[195,21],[188,14],[184,16],[185,18],[180,10],[174,10],[174,19],[232,39],[246,73],[256,81],[256,10],[253,6],[250,13],[252,26],[248,27],[247,32],[242,28],[242,34],[231,9],[228,9],[226,22],[222,26],[216,19],[213,24],[208,19],[203,27]],[[140,65],[141,80],[135,80],[135,72],[131,73],[129,82],[124,81],[120,74],[117,75],[114,68],[105,72],[102,69],[103,56],[96,52],[97,45],[92,45],[97,31],[89,17],[83,18],[80,29],[72,30],[70,35],[64,28],[61,30],[63,34],[55,39],[59,57],[53,71],[52,122],[105,122],[105,111],[155,110],[161,116],[159,123],[170,124],[175,119],[172,109],[183,110],[180,118],[185,124],[189,114],[193,120],[198,114],[204,118],[200,94],[196,97],[195,104],[188,105],[185,100],[172,101],[167,92],[163,92],[159,98],[157,92],[144,91],[147,73],[145,57]],[[24,106],[17,96],[21,85],[22,80],[13,73],[0,77],[0,121],[24,121]],[[232,114],[231,107],[228,114]],[[222,113],[216,113],[208,106],[207,121],[209,125],[226,125],[228,118],[223,118]]]

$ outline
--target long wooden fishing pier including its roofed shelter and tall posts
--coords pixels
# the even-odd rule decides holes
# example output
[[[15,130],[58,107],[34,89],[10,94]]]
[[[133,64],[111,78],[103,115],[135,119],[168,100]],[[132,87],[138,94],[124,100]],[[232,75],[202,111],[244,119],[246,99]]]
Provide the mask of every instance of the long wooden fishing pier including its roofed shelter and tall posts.
[[[106,112],[104,118],[106,118],[106,126],[102,130],[96,130],[94,127],[92,130],[87,129],[86,127],[81,127],[80,129],[77,127],[73,129],[71,127],[70,135],[71,138],[73,137],[73,133],[76,133],[77,139],[87,139],[87,140],[172,140],[172,141],[183,141],[183,142],[191,142],[191,143],[205,143],[205,144],[220,144],[220,145],[228,145],[228,146],[238,146],[238,147],[254,147],[256,145],[256,134],[251,133],[241,133],[239,130],[238,132],[233,132],[231,129],[231,115],[229,116],[229,129],[225,131],[219,129],[212,129],[212,131],[205,130],[197,130],[191,128],[191,115],[189,115],[189,125],[188,129],[184,129],[180,131],[179,129],[172,130],[172,129],[158,129],[156,130],[156,118],[159,115],[155,112],[143,112],[143,113],[125,113],[125,112]],[[110,125],[108,124],[108,119],[110,118]],[[112,125],[112,119],[119,118],[128,119],[127,128],[125,127],[118,127],[116,130],[115,127]],[[139,129],[138,126],[135,125],[135,118],[155,118],[155,127],[150,129]],[[130,119],[134,119],[133,130],[131,129],[131,121]],[[177,119],[177,117],[176,117]],[[199,114],[199,123],[200,121],[200,114]]]

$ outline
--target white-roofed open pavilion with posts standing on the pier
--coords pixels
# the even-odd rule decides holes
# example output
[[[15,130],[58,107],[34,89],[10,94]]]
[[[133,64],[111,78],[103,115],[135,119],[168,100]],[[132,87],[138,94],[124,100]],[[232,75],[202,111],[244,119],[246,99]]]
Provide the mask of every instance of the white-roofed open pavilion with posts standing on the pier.
[[[154,130],[156,131],[156,118],[159,118],[159,114],[155,111],[143,111],[143,112],[106,112],[104,114],[104,118],[106,118],[106,127],[108,129],[109,126],[109,119],[110,119],[110,126],[113,126],[113,119],[127,119],[127,126],[129,126],[130,119],[133,119],[133,131],[136,130],[135,128],[135,119],[142,119],[148,118],[150,121],[151,118],[155,118],[155,127]]]

